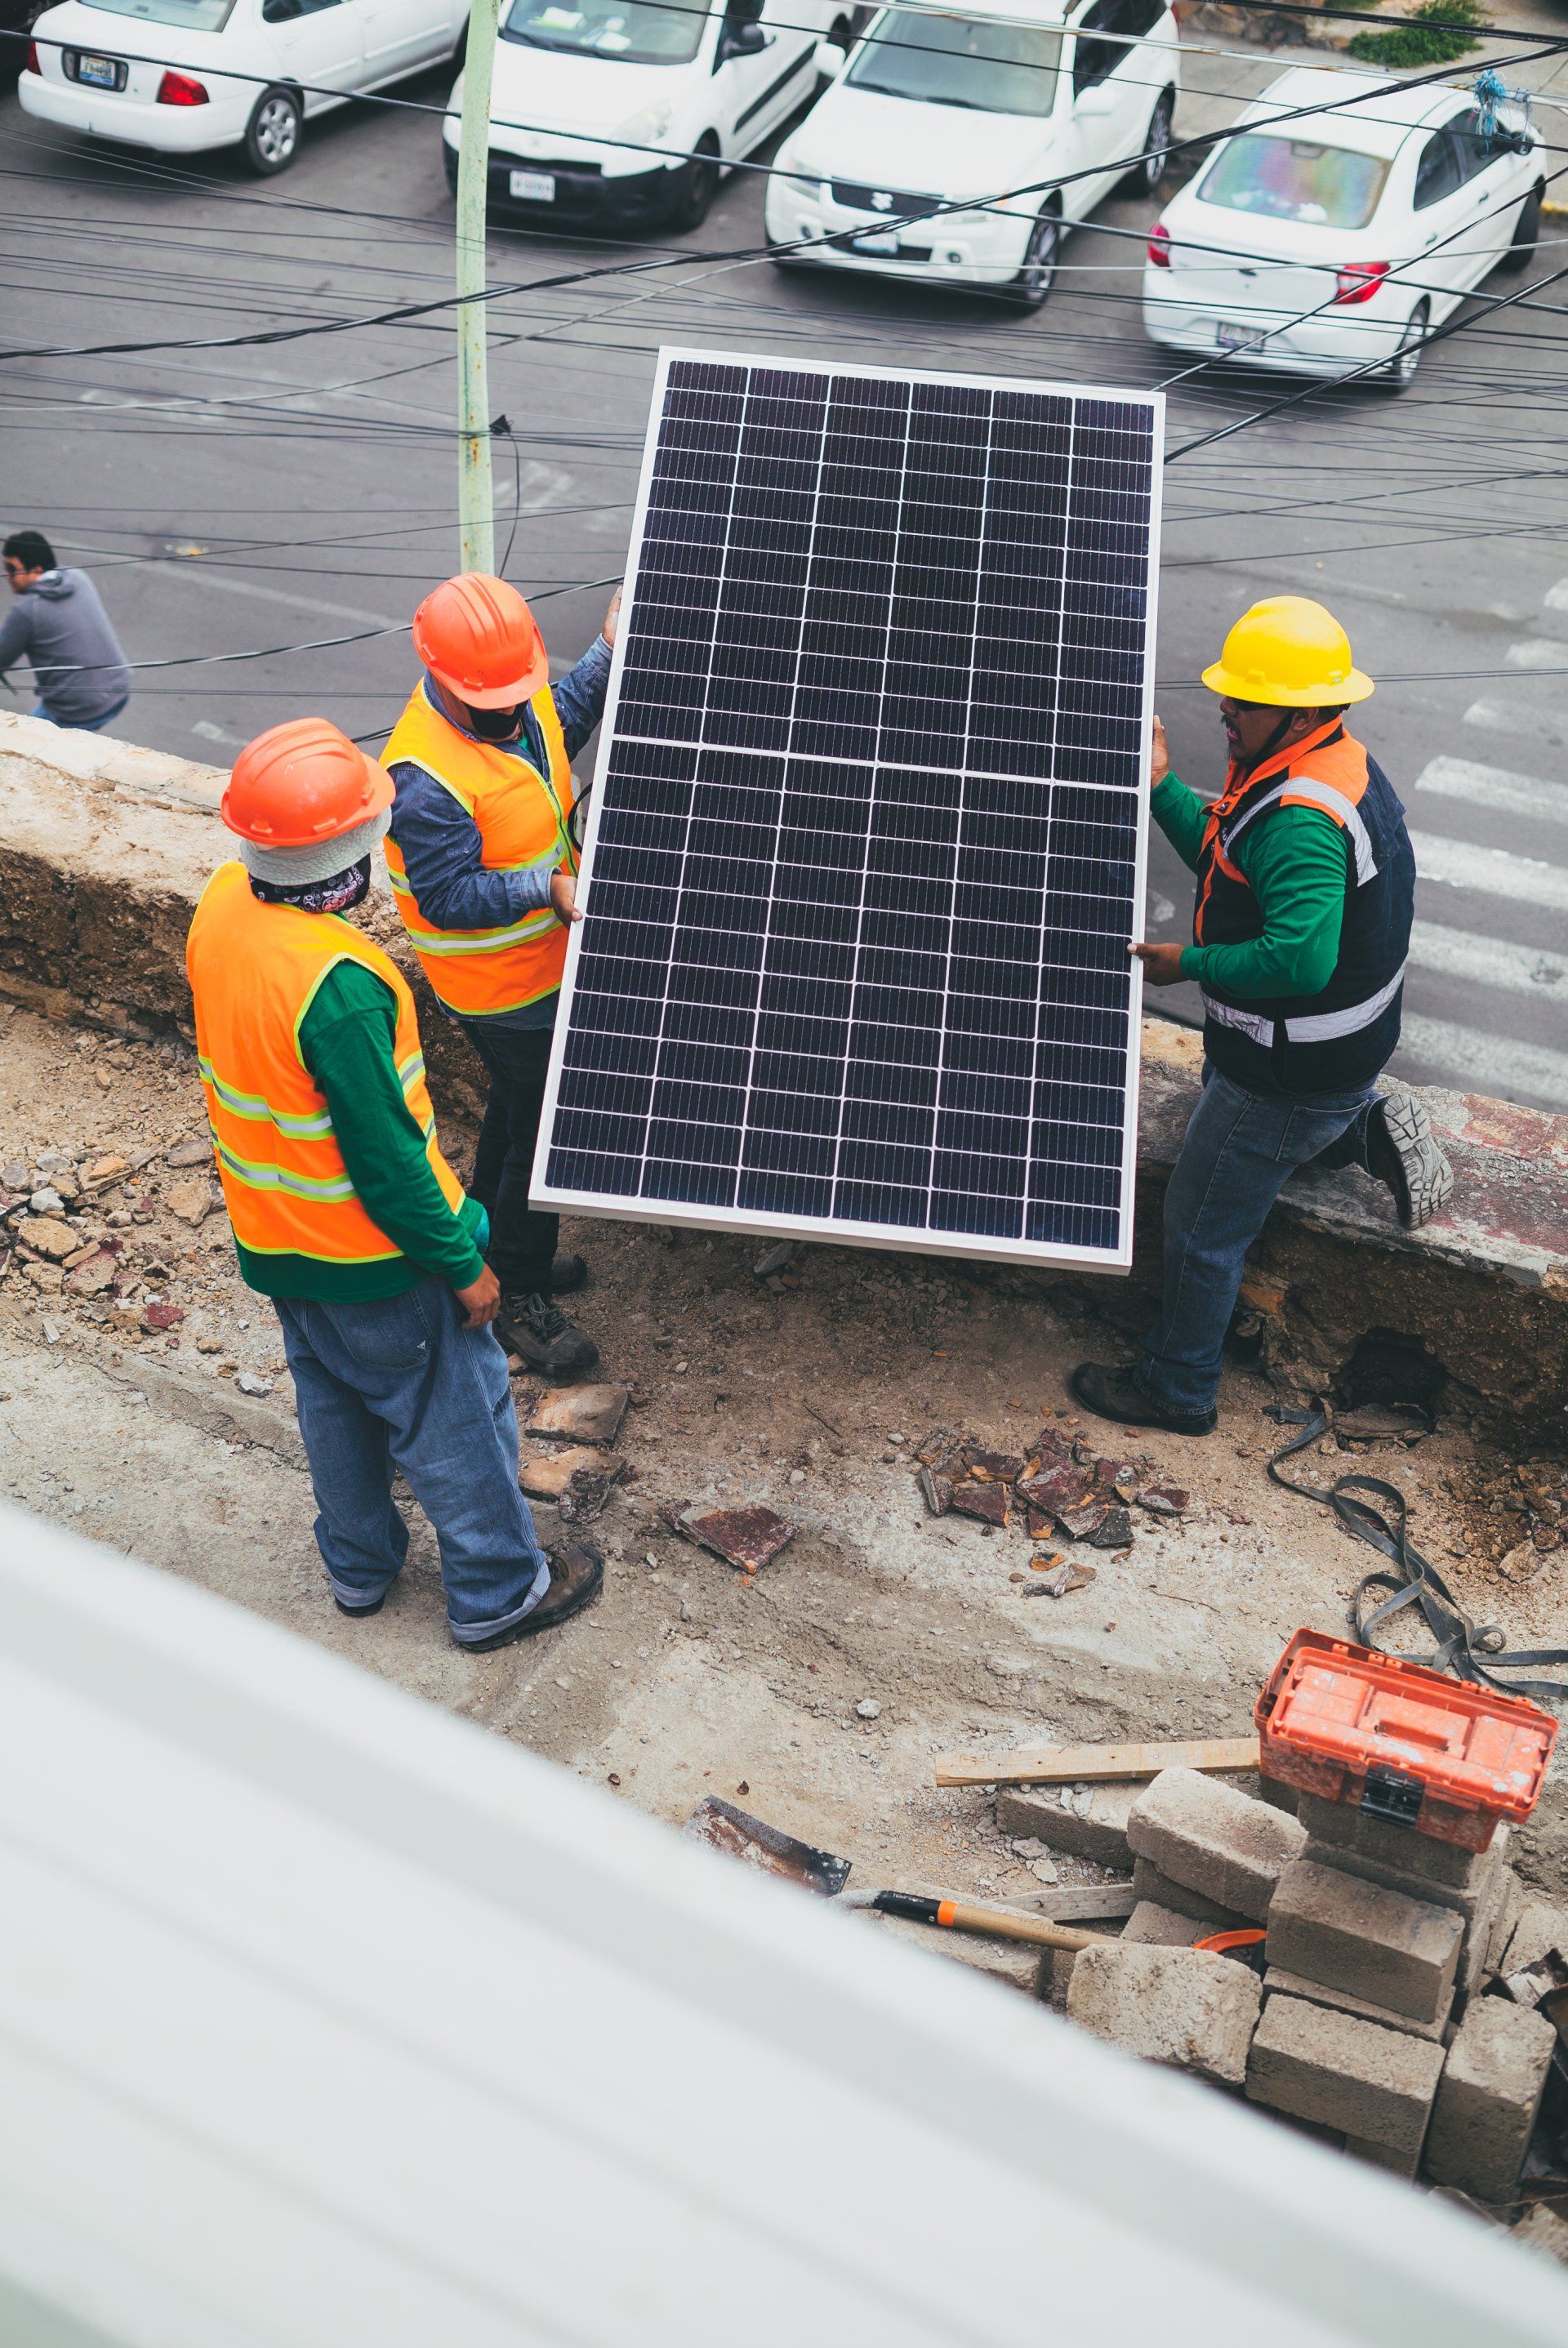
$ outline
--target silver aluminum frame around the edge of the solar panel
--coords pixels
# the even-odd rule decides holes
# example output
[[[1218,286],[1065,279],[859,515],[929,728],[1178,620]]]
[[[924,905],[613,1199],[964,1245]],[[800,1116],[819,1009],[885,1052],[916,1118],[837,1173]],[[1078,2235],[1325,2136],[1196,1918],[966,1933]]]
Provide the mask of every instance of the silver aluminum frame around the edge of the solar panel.
[[[1145,409],[1150,413],[1153,439],[1150,439],[1150,521],[1148,521],[1148,603],[1143,625],[1143,702],[1138,723],[1138,775],[1148,772],[1148,756],[1153,742],[1153,711],[1155,711],[1155,627],[1157,627],[1157,580],[1160,580],[1160,486],[1162,486],[1162,448],[1164,448],[1164,394],[1162,392],[1134,392],[1108,385],[1082,385],[1082,383],[1052,383],[1033,376],[972,376],[951,373],[934,369],[904,369],[904,366],[840,366],[838,362],[810,362],[810,359],[779,359],[770,352],[737,352],[737,350],[692,350],[685,345],[662,345],[657,355],[657,369],[653,380],[653,402],[648,420],[648,439],[643,446],[643,467],[636,488],[636,507],[631,519],[631,542],[627,561],[627,580],[622,592],[622,618],[615,639],[615,655],[610,664],[610,683],[606,695],[599,772],[603,775],[610,763],[615,747],[615,718],[620,707],[620,688],[624,672],[624,648],[631,639],[631,622],[636,613],[638,592],[638,568],[643,552],[643,526],[648,517],[648,500],[655,479],[655,460],[660,451],[660,427],[664,423],[664,392],[669,371],[678,364],[699,366],[746,366],[768,369],[770,373],[798,373],[798,376],[829,376],[838,378],[861,378],[880,383],[908,383],[908,385],[965,385],[986,392],[1014,392],[1014,394],[1056,394],[1063,399],[1115,399],[1129,406]],[[962,787],[969,770],[955,772],[955,784]],[[965,1230],[937,1230],[918,1228],[904,1223],[861,1223],[840,1216],[807,1216],[807,1214],[775,1214],[756,1207],[714,1207],[690,1200],[674,1197],[622,1197],[608,1195],[603,1190],[575,1190],[549,1181],[549,1153],[554,1146],[554,1122],[556,1101],[561,1092],[561,1075],[566,1064],[566,1047],[570,1035],[573,1014],[573,989],[577,977],[577,963],[584,951],[584,932],[592,927],[592,899],[594,899],[594,852],[599,845],[599,824],[603,815],[606,794],[594,789],[589,796],[587,831],[582,841],[580,878],[577,878],[577,902],[589,913],[589,920],[575,923],[568,935],[566,949],[566,972],[561,979],[561,1003],[556,1012],[554,1045],[549,1054],[549,1075],[545,1087],[545,1106],[540,1115],[540,1139],[533,1160],[530,1179],[530,1202],[540,1209],[561,1214],[592,1214],[608,1216],[613,1221],[631,1223],[660,1223],[678,1226],[707,1233],[728,1235],[756,1235],[756,1237],[784,1237],[784,1240],[817,1240],[852,1247],[878,1247],[897,1254],[915,1256],[967,1256],[986,1263],[1033,1263],[1033,1266],[1063,1266],[1077,1270],[1101,1270],[1101,1273],[1127,1273],[1131,1268],[1131,1237],[1134,1237],[1134,1186],[1136,1186],[1136,1141],[1138,1141],[1138,1040],[1141,1040],[1141,1007],[1143,1007],[1143,965],[1134,958],[1129,970],[1129,998],[1127,998],[1127,1089],[1124,1089],[1124,1118],[1122,1118],[1122,1183],[1117,1200],[1117,1244],[1110,1247],[1084,1247],[1070,1242],[1042,1242],[1028,1237],[1007,1237],[991,1233],[965,1233]],[[1136,848],[1134,848],[1134,883],[1131,883],[1131,918],[1138,920],[1145,890],[1148,890],[1148,789],[1141,784],[1134,794],[1136,801]]]

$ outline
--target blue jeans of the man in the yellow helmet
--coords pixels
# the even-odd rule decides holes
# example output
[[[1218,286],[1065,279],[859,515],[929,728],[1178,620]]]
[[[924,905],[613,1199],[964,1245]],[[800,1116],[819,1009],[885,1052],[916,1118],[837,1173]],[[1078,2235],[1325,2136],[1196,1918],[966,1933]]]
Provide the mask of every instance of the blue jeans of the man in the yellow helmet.
[[[1164,1193],[1164,1298],[1136,1383],[1171,1411],[1211,1411],[1246,1249],[1296,1167],[1366,1165],[1376,1082],[1352,1092],[1249,1092],[1204,1064]]]

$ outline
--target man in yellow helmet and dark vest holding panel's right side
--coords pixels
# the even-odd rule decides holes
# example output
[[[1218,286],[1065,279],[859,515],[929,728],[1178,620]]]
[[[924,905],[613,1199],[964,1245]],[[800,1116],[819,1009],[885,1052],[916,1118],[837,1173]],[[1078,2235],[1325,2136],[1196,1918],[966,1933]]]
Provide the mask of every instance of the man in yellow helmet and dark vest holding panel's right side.
[[[1246,1249],[1286,1176],[1359,1165],[1425,1223],[1453,1190],[1411,1092],[1378,1075],[1399,1043],[1415,902],[1404,808],[1345,730],[1373,690],[1338,620],[1305,596],[1253,603],[1204,683],[1230,744],[1207,805],[1169,770],[1155,718],[1153,815],[1197,873],[1190,946],[1136,944],[1153,986],[1204,991],[1204,1092],[1164,1193],[1164,1303],[1131,1369],[1082,1362],[1101,1418],[1209,1435]]]

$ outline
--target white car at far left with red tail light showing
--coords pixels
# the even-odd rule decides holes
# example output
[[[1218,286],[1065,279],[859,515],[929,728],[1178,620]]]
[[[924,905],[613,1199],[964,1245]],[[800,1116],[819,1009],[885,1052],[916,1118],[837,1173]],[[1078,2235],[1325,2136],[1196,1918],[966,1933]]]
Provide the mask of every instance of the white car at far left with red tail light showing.
[[[23,113],[96,139],[251,169],[293,162],[300,122],[453,59],[467,0],[63,0],[33,26]]]

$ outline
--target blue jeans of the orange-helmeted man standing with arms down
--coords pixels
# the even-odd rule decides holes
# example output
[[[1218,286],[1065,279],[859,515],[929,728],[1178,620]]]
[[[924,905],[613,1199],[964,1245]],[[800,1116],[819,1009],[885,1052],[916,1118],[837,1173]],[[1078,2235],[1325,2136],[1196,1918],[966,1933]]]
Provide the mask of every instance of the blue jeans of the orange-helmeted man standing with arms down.
[[[317,1496],[317,1547],[343,1606],[373,1606],[408,1554],[392,1470],[437,1531],[458,1646],[509,1630],[549,1590],[516,1486],[507,1357],[465,1329],[444,1280],[364,1305],[275,1296]]]

